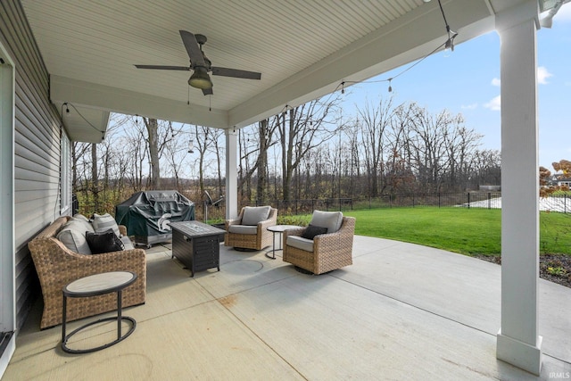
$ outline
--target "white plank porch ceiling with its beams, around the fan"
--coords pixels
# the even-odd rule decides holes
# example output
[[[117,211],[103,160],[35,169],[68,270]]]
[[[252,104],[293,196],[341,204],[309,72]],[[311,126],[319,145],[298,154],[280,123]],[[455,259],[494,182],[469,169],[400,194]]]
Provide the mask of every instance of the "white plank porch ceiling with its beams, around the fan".
[[[460,33],[459,43],[491,30],[495,12],[521,1],[443,0],[443,7],[451,28]],[[101,112],[215,128],[243,127],[279,112],[285,104],[325,95],[343,80],[363,80],[401,66],[445,38],[436,0],[22,4],[52,76],[54,104],[70,102]],[[211,76],[210,98],[188,87],[190,71],[133,66],[188,65],[179,29],[208,37],[203,49],[212,65],[260,71],[261,80]],[[70,124],[70,130],[82,128],[78,120]]]

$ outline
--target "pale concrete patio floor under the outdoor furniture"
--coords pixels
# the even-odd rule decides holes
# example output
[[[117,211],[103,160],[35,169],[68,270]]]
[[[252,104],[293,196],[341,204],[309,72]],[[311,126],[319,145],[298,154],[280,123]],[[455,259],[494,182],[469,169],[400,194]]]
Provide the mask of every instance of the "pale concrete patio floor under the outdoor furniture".
[[[366,236],[355,236],[352,266],[321,276],[264,253],[220,246],[220,271],[191,278],[170,244],[155,245],[146,303],[124,310],[137,329],[100,352],[62,352],[61,326],[40,331],[37,302],[3,380],[571,377],[567,287],[540,280],[543,366],[534,377],[495,358],[498,265]],[[111,341],[115,328],[87,329],[70,346]]]

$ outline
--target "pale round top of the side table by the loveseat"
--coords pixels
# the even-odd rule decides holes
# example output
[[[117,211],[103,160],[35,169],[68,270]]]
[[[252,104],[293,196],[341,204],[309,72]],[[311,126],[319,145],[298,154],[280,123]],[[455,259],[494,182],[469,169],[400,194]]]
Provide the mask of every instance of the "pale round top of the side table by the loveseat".
[[[129,271],[103,272],[74,280],[63,291],[68,294],[106,294],[128,285],[136,278],[137,275]]]

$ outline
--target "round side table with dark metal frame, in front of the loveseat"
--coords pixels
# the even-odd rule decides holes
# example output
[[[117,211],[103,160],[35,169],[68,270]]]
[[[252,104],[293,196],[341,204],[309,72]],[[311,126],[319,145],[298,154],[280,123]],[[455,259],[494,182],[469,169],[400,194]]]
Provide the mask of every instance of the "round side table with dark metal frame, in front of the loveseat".
[[[137,274],[130,271],[112,271],[103,272],[101,274],[91,275],[89,277],[81,277],[71,282],[68,286],[63,287],[63,305],[62,305],[62,350],[68,353],[89,353],[100,351],[108,348],[114,344],[119,343],[131,335],[137,327],[137,321],[128,316],[122,316],[121,296],[125,287],[133,284],[137,279]],[[67,298],[85,298],[89,296],[97,296],[103,294],[117,293],[117,316],[103,318],[87,323],[79,328],[73,330],[69,335],[66,335],[66,315],[67,315]],[[95,348],[88,349],[70,349],[67,342],[72,335],[77,334],[80,330],[101,323],[102,321],[117,320],[117,340],[108,344],[103,344]],[[125,335],[121,335],[121,321],[128,320],[131,322],[131,327]]]

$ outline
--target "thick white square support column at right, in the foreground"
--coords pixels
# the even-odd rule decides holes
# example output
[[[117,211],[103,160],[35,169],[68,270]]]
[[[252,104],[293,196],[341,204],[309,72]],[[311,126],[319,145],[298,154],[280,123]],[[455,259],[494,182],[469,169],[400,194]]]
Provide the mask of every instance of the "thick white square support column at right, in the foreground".
[[[501,37],[501,329],[496,356],[539,375],[535,0],[496,16]]]

